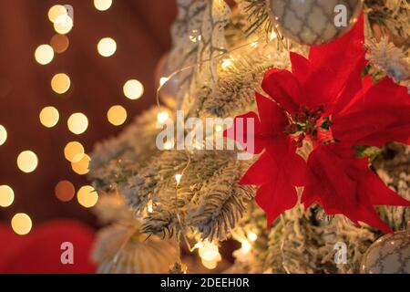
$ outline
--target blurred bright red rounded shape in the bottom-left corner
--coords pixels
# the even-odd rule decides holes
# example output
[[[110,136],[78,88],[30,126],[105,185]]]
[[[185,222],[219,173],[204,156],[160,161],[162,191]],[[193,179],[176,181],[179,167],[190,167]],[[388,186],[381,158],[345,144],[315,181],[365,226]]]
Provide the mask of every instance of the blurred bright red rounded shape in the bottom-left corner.
[[[0,274],[94,274],[91,261],[94,231],[73,220],[55,220],[37,226],[30,234],[16,235],[0,224]],[[74,263],[63,263],[63,243],[73,246]]]

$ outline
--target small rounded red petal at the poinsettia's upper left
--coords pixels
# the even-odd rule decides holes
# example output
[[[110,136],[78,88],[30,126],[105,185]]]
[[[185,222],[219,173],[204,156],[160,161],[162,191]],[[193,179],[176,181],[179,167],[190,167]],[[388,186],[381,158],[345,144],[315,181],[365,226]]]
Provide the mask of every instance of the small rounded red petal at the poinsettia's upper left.
[[[289,113],[299,109],[302,92],[298,80],[288,70],[273,68],[267,71],[261,88]]]

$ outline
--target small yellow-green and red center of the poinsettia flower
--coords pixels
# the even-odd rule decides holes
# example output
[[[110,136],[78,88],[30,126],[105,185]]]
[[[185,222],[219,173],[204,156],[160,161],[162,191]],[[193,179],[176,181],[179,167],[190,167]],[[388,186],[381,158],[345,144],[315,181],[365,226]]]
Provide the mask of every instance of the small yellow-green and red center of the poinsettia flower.
[[[285,133],[292,136],[299,148],[303,146],[303,141],[307,137],[312,141],[332,141],[331,118],[323,117],[323,113],[324,106],[319,106],[316,109],[301,106],[290,118],[290,124],[286,127]]]

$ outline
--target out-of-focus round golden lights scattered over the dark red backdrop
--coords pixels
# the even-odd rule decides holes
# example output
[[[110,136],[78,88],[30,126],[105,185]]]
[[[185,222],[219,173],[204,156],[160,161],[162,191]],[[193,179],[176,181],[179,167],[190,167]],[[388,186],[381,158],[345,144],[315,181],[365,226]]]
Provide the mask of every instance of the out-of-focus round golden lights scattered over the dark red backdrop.
[[[101,12],[107,11],[113,4],[112,0],[93,0],[94,7]],[[46,66],[55,60],[56,55],[65,53],[70,46],[69,32],[74,27],[74,9],[70,5],[53,5],[49,8],[48,20],[54,27],[56,34],[51,37],[48,44],[36,47],[34,57],[40,66]],[[112,37],[101,38],[97,45],[97,53],[101,57],[112,57],[117,51],[117,42]],[[64,96],[71,89],[71,78],[67,72],[56,72],[50,79],[50,89],[57,96]],[[140,99],[144,94],[144,86],[137,79],[129,79],[122,88],[126,98],[131,100]],[[114,126],[123,125],[128,119],[127,110],[121,105],[113,105],[107,111],[108,122]],[[52,105],[46,106],[39,112],[39,121],[47,129],[56,127],[60,122],[60,113]],[[73,134],[80,136],[87,132],[89,122],[87,114],[74,112],[67,119],[67,129]],[[10,133],[0,124],[0,147],[5,144]],[[73,172],[78,175],[88,173],[90,157],[80,141],[68,141],[64,148],[64,156],[70,163]],[[22,151],[17,155],[16,165],[23,173],[36,172],[39,159],[35,151]],[[63,202],[70,202],[76,196],[76,188],[69,181],[56,183],[56,198]],[[77,202],[85,208],[93,207],[98,200],[98,194],[90,185],[81,186],[77,191]],[[0,207],[8,208],[15,201],[15,192],[12,186],[0,185]],[[15,214],[11,220],[11,226],[17,235],[30,233],[33,223],[29,214]]]

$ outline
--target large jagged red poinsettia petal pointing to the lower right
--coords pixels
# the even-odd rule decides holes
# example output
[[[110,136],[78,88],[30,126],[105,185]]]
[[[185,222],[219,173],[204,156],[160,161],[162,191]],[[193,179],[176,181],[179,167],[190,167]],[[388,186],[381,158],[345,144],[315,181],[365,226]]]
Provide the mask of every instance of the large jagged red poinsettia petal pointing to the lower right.
[[[316,202],[327,214],[343,214],[354,224],[362,222],[391,232],[374,205],[409,205],[409,202],[390,192],[369,170],[366,159],[339,157],[341,150],[340,145],[330,144],[313,151],[308,162],[312,181],[304,188],[302,203],[308,206]]]

